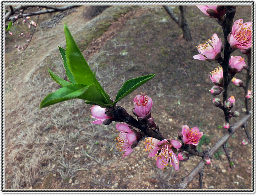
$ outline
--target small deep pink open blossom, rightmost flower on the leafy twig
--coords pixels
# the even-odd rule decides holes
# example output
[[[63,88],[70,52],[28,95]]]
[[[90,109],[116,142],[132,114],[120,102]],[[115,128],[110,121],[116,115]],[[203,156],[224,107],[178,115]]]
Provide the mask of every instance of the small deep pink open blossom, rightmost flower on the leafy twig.
[[[182,126],[182,140],[184,144],[197,145],[203,136],[203,132],[199,132],[198,127],[189,129],[188,125]]]

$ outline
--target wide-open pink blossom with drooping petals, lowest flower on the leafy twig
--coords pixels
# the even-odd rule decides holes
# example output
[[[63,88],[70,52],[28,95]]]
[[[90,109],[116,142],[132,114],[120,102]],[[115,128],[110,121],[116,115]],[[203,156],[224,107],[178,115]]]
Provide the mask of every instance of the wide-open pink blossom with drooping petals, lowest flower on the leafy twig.
[[[178,170],[179,160],[176,154],[173,151],[181,147],[181,144],[177,140],[162,140],[159,141],[153,137],[146,138],[145,151],[151,151],[149,157],[156,156],[157,167],[159,169],[164,169],[168,166],[170,162],[170,167],[174,167],[175,170]]]

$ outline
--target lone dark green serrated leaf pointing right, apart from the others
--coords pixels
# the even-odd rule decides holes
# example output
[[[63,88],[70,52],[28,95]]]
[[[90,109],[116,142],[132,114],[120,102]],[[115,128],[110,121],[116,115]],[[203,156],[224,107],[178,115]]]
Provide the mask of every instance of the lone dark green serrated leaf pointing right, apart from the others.
[[[139,86],[149,81],[155,75],[156,74],[144,75],[142,77],[137,77],[137,78],[129,79],[128,81],[126,81],[124,85],[121,87],[121,89],[118,91],[114,104],[116,104],[118,101],[123,99],[128,94],[132,93],[132,91],[137,89]]]

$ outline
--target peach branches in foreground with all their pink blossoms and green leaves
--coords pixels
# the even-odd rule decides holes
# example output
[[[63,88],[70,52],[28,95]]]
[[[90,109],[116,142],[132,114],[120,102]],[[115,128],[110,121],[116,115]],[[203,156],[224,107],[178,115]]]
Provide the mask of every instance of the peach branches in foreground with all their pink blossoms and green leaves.
[[[230,166],[233,165],[226,151],[226,142],[237,128],[246,123],[251,114],[249,112],[247,116],[243,117],[236,124],[230,125],[230,118],[239,117],[240,114],[236,110],[231,110],[236,102],[234,96],[227,97],[230,81],[238,87],[248,88],[249,79],[246,79],[246,86],[244,87],[243,82],[239,79],[237,80],[234,76],[243,69],[248,70],[249,66],[245,64],[244,58],[241,56],[231,56],[230,58],[230,55],[235,49],[240,49],[243,52],[249,51],[251,48],[250,34],[252,27],[251,22],[243,23],[242,19],[235,21],[233,24],[235,6],[198,7],[209,17],[217,19],[218,24],[223,27],[225,39],[223,46],[218,35],[213,34],[212,38],[208,39],[206,43],[197,46],[200,54],[194,56],[195,59],[208,62],[215,61],[220,65],[210,73],[210,79],[214,86],[209,91],[214,96],[223,94],[222,101],[219,98],[214,98],[212,103],[223,110],[225,118],[223,128],[228,129],[228,132],[211,148],[202,152],[197,151],[196,147],[203,136],[203,132],[200,132],[196,126],[189,128],[188,125],[183,125],[181,132],[177,134],[177,139],[180,141],[164,137],[151,113],[153,101],[145,93],[136,95],[133,98],[132,113],[134,117],[123,107],[119,106],[117,103],[121,99],[152,79],[155,74],[129,79],[123,84],[115,100],[113,100],[98,82],[96,73],[91,71],[66,24],[64,25],[66,49],[59,47],[59,51],[69,81],[60,78],[48,69],[50,76],[61,85],[61,88],[48,94],[42,100],[40,108],[74,98],[85,100],[86,104],[93,105],[91,107],[91,117],[95,120],[91,123],[110,125],[113,121],[118,122],[116,129],[119,133],[115,140],[117,141],[118,151],[124,153],[123,157],[132,153],[133,149],[143,140],[144,150],[149,152],[149,157],[155,157],[156,165],[160,169],[164,169],[169,165],[178,170],[180,168],[180,161],[188,161],[191,155],[202,157],[202,161],[184,178],[177,188],[187,187],[195,178],[195,175],[199,173],[200,186],[202,186],[203,168],[211,163],[211,157],[221,146],[223,146],[226,152]],[[223,57],[221,55],[222,51],[224,51]],[[249,52],[247,53],[249,56]],[[249,99],[247,96],[245,100]]]

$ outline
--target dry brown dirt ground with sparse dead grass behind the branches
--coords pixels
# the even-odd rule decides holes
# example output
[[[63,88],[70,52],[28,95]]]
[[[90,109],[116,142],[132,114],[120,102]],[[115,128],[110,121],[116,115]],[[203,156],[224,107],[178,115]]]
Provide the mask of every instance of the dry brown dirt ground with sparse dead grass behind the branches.
[[[5,189],[173,189],[201,160],[192,156],[180,163],[178,171],[161,170],[143,143],[123,158],[114,141],[116,123],[91,124],[91,106],[82,100],[39,109],[42,99],[60,87],[47,68],[65,77],[57,47],[65,48],[64,23],[110,97],[126,80],[157,73],[119,102],[130,114],[131,97],[142,91],[153,100],[152,115],[165,137],[177,139],[182,125],[197,126],[205,135],[199,148],[204,150],[225,133],[218,128],[224,122],[223,112],[212,106],[214,97],[208,92],[213,86],[208,75],[218,64],[193,59],[198,54],[195,46],[213,33],[224,40],[215,19],[196,6],[186,6],[193,40],[185,41],[161,6],[112,6],[93,18],[90,9],[73,9],[51,28],[41,24],[53,14],[41,17],[26,51],[15,48],[26,42],[19,37],[29,32],[25,26],[14,27],[14,35],[5,40]],[[178,13],[177,8],[174,11]],[[234,20],[251,21],[250,13],[251,6],[238,6]],[[245,72],[237,78],[244,80]],[[230,84],[229,95],[235,96],[234,110],[241,113],[231,118],[234,123],[244,116],[244,94]],[[252,189],[251,144],[242,145],[243,139],[246,134],[240,129],[227,142],[234,168],[229,168],[222,149],[214,155],[204,169],[203,189]],[[187,189],[198,189],[198,179]]]

